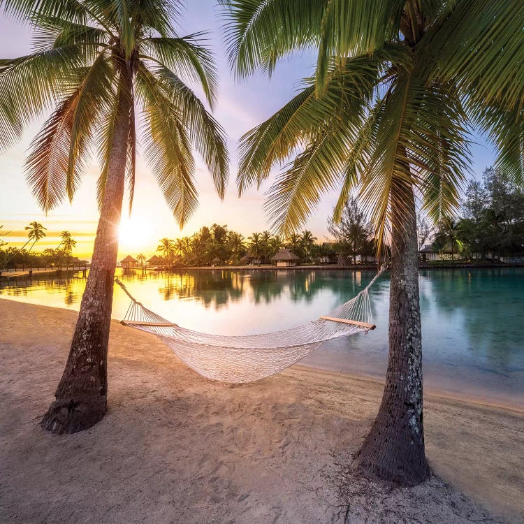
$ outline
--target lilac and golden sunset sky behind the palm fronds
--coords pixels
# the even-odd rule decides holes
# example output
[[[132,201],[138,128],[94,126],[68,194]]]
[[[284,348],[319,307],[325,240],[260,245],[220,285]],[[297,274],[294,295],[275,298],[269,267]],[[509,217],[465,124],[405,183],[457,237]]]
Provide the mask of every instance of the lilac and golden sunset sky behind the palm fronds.
[[[212,180],[203,163],[196,161],[196,180],[200,205],[197,212],[181,231],[163,201],[157,183],[152,177],[138,150],[137,180],[133,211],[131,216],[124,210],[122,214],[119,256],[143,252],[154,254],[158,240],[163,237],[177,238],[191,235],[202,226],[213,223],[227,224],[229,228],[240,231],[245,236],[254,231],[268,229],[270,224],[263,212],[264,191],[270,182],[247,191],[238,198],[235,177],[238,166],[238,139],[249,129],[270,117],[284,103],[296,94],[302,78],[312,73],[314,56],[308,53],[293,54],[284,59],[271,78],[263,73],[253,75],[239,82],[231,74],[224,32],[221,30],[223,12],[216,0],[187,0],[182,19],[178,24],[180,35],[196,31],[208,31],[208,45],[215,54],[219,72],[219,92],[214,117],[226,130],[231,156],[231,175],[224,201],[214,192]],[[0,58],[14,58],[31,51],[31,31],[28,27],[13,22],[0,13]],[[47,115],[46,115],[47,116]],[[20,143],[0,155],[0,233],[9,231],[1,237],[8,245],[22,247],[27,241],[27,226],[30,221],[40,221],[48,228],[47,236],[35,249],[57,247],[59,233],[71,231],[78,241],[74,254],[80,258],[90,258],[94,233],[98,221],[96,207],[96,180],[99,168],[92,163],[87,170],[73,203],[64,203],[45,216],[24,180],[24,159],[26,152],[45,118],[31,125]],[[481,137],[474,137],[472,146],[472,175],[480,177],[486,166],[495,160],[492,147]],[[306,228],[310,229],[319,241],[328,238],[327,222],[335,205],[336,194],[327,194],[319,207],[312,213]]]

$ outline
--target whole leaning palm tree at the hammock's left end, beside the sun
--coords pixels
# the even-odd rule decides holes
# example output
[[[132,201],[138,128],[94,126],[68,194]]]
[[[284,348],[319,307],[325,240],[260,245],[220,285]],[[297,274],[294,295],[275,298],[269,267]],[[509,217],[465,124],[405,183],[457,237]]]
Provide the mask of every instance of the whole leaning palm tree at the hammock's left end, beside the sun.
[[[177,4],[3,2],[8,13],[31,23],[37,47],[25,57],[1,61],[0,148],[53,108],[26,164],[27,182],[46,212],[73,198],[90,152],[98,152],[101,164],[91,271],[56,401],[42,422],[52,432],[84,430],[105,414],[118,226],[126,180],[130,205],[133,196],[136,129],[143,132],[143,156],[180,226],[198,203],[193,149],[224,196],[224,131],[184,83],[198,83],[212,107],[217,74],[202,34],[176,34]]]

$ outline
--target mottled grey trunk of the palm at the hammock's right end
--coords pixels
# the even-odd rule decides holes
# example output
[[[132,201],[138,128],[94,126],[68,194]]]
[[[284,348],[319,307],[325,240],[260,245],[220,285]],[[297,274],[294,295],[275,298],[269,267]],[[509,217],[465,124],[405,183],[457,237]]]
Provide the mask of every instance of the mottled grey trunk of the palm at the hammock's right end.
[[[389,361],[377,418],[356,458],[369,476],[414,486],[429,474],[425,460],[422,337],[416,215],[411,189],[391,190]],[[407,212],[408,211],[408,212]]]

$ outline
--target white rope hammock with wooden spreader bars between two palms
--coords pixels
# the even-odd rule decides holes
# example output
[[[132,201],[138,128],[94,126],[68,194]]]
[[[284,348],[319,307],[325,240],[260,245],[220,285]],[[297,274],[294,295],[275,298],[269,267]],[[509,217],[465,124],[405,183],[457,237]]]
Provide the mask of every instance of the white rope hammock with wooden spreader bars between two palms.
[[[326,340],[374,329],[368,290],[385,269],[384,264],[358,295],[326,316],[291,329],[241,336],[182,328],[144,307],[119,279],[115,282],[131,299],[122,324],[158,335],[180,360],[204,377],[240,384],[284,370]]]

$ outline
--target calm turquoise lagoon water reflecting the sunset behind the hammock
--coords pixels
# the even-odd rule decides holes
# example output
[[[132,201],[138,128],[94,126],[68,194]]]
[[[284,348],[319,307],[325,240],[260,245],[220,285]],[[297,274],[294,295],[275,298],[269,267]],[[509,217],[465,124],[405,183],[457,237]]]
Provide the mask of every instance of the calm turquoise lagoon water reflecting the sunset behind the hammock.
[[[184,271],[123,277],[150,309],[182,326],[240,335],[296,326],[349,300],[372,272]],[[2,281],[0,297],[78,310],[75,277]],[[433,388],[524,405],[524,268],[422,270],[425,382]],[[303,363],[382,375],[387,363],[388,277],[370,289],[377,329],[326,342]],[[115,288],[112,316],[129,300]]]

